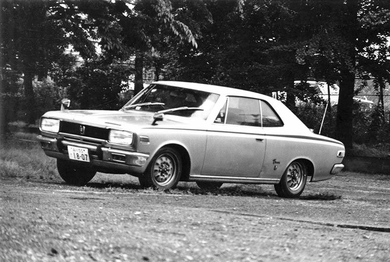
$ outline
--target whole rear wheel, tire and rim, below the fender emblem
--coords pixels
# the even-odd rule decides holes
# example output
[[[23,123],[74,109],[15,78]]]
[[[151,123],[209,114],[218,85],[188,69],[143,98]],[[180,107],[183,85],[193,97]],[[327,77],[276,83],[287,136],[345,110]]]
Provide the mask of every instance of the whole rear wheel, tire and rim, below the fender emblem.
[[[293,161],[286,169],[279,183],[274,185],[278,196],[286,198],[298,197],[306,186],[306,166],[299,161]]]

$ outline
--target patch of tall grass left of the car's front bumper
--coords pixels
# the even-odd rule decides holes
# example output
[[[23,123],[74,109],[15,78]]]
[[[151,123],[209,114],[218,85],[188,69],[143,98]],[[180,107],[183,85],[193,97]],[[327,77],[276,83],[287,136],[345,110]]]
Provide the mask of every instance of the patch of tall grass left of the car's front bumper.
[[[52,179],[56,160],[47,157],[35,134],[15,133],[1,142],[0,177]]]

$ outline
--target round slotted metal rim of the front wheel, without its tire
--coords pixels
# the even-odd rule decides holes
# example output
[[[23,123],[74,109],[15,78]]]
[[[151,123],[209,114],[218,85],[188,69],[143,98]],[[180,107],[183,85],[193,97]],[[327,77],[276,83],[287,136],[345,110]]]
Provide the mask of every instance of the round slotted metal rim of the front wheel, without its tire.
[[[176,174],[176,161],[172,154],[160,155],[153,165],[153,179],[160,186],[168,184]]]

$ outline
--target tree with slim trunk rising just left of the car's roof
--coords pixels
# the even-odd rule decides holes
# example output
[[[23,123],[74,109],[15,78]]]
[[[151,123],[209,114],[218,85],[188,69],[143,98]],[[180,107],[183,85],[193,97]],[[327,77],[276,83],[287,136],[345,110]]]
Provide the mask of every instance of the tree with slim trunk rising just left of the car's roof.
[[[192,47],[197,47],[192,29],[180,21],[182,17],[175,13],[180,9],[179,6],[188,8],[191,4],[207,16],[201,0],[176,1],[175,10],[170,0],[138,0],[135,2],[133,15],[120,21],[123,43],[133,48],[136,56],[135,93],[143,88],[145,60],[152,61],[159,57],[159,52],[166,48],[167,42],[172,43],[175,39],[179,44],[189,43]]]

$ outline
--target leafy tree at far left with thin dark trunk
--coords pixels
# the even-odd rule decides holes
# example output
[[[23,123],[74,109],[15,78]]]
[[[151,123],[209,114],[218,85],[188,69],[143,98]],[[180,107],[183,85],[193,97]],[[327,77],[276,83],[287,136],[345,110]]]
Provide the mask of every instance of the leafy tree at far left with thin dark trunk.
[[[112,25],[128,7],[105,0],[1,1],[1,70],[23,75],[28,122],[36,119],[32,81],[44,76],[70,45],[84,58],[96,55],[93,39],[120,52]]]

